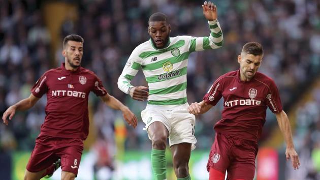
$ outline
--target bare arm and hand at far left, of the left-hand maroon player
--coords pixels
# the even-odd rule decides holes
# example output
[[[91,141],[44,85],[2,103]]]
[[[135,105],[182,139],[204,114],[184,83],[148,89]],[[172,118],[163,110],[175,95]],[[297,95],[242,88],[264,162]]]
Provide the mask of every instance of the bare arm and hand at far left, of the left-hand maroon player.
[[[19,102],[17,102],[16,104],[10,106],[3,114],[2,119],[4,121],[4,124],[6,124],[8,126],[9,124],[9,120],[12,119],[12,117],[14,116],[14,114],[16,113],[16,111],[18,110],[27,110],[30,109],[31,107],[33,107],[36,102],[39,100],[40,98],[35,97],[33,94],[30,94],[30,96],[28,98],[25,98]],[[9,120],[7,119],[9,116]]]

